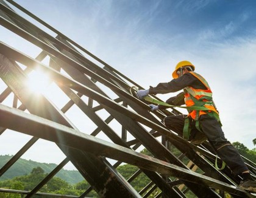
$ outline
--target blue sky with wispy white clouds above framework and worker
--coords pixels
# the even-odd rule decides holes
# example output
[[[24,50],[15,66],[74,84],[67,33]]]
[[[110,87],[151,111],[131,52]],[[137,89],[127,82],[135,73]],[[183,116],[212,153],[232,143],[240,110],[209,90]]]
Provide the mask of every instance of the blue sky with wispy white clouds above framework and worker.
[[[226,137],[255,148],[256,1],[15,2],[145,89],[170,81],[177,62],[191,61],[213,90]]]

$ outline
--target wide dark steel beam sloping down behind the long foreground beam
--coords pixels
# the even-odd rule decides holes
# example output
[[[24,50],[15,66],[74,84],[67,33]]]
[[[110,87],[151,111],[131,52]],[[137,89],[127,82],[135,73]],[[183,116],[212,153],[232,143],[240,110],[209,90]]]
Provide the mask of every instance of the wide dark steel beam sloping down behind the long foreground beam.
[[[26,86],[24,85],[26,77],[23,73],[21,73],[21,70],[17,69],[16,66],[12,64],[12,62],[10,62],[8,59],[4,58],[4,56],[1,55],[0,63],[0,76],[2,80],[5,81],[5,83],[10,87],[10,89],[12,89],[15,95],[32,114],[40,115],[41,117],[54,120],[58,123],[62,123],[65,126],[73,127],[76,129],[76,127],[70,121],[68,121],[65,115],[58,109],[55,109],[55,107],[52,106],[52,104],[48,100],[46,100],[42,96],[40,97],[38,95],[35,95],[27,90]],[[30,98],[34,98],[34,101],[31,102]],[[59,136],[59,138],[62,139],[61,135]],[[69,152],[73,152],[72,148],[65,148],[65,146],[61,144],[58,146],[60,147],[60,149],[62,149],[62,151],[64,151],[67,157],[69,157]],[[88,180],[88,182],[90,182],[91,186],[93,186],[93,188],[99,194],[101,194],[101,196],[106,196],[106,194],[108,194],[108,196],[110,196],[111,194],[115,194],[116,188],[119,188],[118,193],[122,196],[138,196],[138,193],[130,185],[124,183],[123,179],[117,176],[116,172],[113,172],[113,169],[107,168],[107,166],[104,164],[104,160],[98,159],[98,157],[96,156],[87,158],[86,156],[87,154],[85,154],[84,152],[76,151],[76,155],[72,156],[72,158],[70,159],[73,159],[73,164],[77,166],[77,169],[82,174],[82,176],[84,176]],[[82,166],[77,163],[77,160],[79,159],[84,159],[84,164]],[[98,164],[101,169],[94,172],[88,171],[90,166],[93,166],[91,168],[95,168],[93,164]],[[106,176],[102,177],[102,172],[100,172],[100,170],[104,170],[108,174],[108,177],[112,175],[111,180],[109,180],[109,178]],[[98,176],[98,179],[90,179],[90,175],[92,175],[91,178]],[[106,183],[109,183],[111,185],[106,186]],[[106,189],[106,187],[108,188]]]

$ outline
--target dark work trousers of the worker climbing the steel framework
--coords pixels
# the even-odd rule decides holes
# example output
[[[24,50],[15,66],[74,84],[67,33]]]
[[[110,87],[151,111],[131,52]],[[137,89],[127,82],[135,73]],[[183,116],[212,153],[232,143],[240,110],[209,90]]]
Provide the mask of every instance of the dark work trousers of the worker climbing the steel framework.
[[[187,115],[168,116],[164,119],[165,126],[182,137],[184,120],[186,116]],[[202,126],[202,132],[204,132],[204,134],[207,136],[208,141],[212,145],[213,149],[215,149],[219,158],[221,158],[221,160],[223,160],[227,166],[229,166],[232,173],[236,176],[244,171],[247,171],[248,168],[241,158],[239,152],[229,141],[227,141],[218,121],[209,115],[201,115],[199,121]],[[194,123],[195,121],[191,119],[191,136],[193,136],[196,132],[199,132],[195,128]]]

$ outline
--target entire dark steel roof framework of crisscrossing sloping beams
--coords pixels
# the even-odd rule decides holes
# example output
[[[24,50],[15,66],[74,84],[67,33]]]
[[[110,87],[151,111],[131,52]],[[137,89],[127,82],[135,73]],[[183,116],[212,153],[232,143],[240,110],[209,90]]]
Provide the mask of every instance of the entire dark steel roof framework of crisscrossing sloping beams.
[[[48,31],[35,26],[15,9]],[[197,197],[224,197],[224,192],[232,197],[254,197],[236,188],[240,179],[228,167],[221,171],[215,168],[216,155],[207,142],[195,146],[162,124],[166,115],[180,114],[179,111],[150,112],[146,101],[138,100],[131,89],[143,87],[14,1],[0,0],[0,23],[38,52],[33,58],[0,42],[0,138],[8,130],[30,138],[2,166],[0,177],[42,139],[54,143],[65,155],[31,191],[0,188],[0,194],[77,197],[40,192],[71,162],[90,183],[80,197],[86,197],[91,190],[100,197],[152,197],[154,189],[160,192],[155,197],[187,197],[187,191]],[[56,103],[27,87],[29,75],[37,69],[48,73],[60,93],[55,99],[58,101],[63,95],[65,102]],[[10,98],[12,103],[7,103]],[[76,119],[84,120],[82,130],[68,114],[74,108],[80,112]],[[87,126],[88,123],[94,128]],[[141,154],[141,148],[154,157]],[[181,154],[176,156],[173,148]],[[184,158],[190,162],[184,163]],[[255,177],[255,163],[244,160]],[[138,167],[127,180],[117,170],[123,163]],[[196,169],[203,174],[195,172]],[[140,174],[145,174],[151,182],[138,192],[130,183]]]

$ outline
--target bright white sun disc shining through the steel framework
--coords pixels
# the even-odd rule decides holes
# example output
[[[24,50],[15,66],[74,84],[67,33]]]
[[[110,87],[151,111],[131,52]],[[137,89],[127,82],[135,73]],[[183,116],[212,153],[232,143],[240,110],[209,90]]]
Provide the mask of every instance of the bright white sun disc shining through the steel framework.
[[[49,86],[49,77],[40,70],[34,70],[29,73],[29,80],[27,81],[27,86],[30,90],[37,94],[43,94],[47,87]]]

